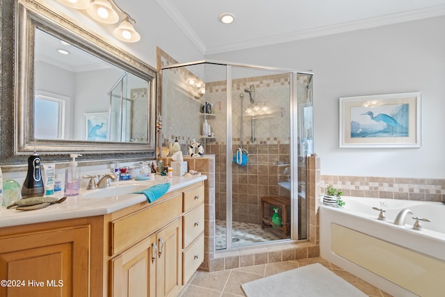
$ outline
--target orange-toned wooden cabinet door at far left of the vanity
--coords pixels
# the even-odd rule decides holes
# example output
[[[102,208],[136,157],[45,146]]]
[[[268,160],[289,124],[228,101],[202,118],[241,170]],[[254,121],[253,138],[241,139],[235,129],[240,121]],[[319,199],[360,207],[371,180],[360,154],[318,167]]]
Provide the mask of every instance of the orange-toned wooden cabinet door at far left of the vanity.
[[[0,296],[89,296],[90,227],[0,238]]]

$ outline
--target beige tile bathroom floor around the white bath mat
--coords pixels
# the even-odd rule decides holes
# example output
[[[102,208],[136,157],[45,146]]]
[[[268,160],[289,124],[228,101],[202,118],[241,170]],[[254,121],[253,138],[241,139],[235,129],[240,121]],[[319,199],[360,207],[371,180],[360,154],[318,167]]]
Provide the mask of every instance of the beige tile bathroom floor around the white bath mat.
[[[197,271],[191,280],[181,290],[180,297],[236,297],[245,296],[241,284],[265,278],[283,271],[293,268],[305,266],[307,264],[320,263],[329,268],[335,274],[339,275],[343,280],[353,284],[357,289],[371,297],[389,297],[391,295],[374,287],[373,285],[360,280],[354,275],[343,271],[343,269],[327,262],[321,257],[299,259],[287,262],[277,262],[272,264],[262,264],[257,266],[249,266],[236,268],[225,271],[204,272]],[[287,296],[282,296],[287,297]]]

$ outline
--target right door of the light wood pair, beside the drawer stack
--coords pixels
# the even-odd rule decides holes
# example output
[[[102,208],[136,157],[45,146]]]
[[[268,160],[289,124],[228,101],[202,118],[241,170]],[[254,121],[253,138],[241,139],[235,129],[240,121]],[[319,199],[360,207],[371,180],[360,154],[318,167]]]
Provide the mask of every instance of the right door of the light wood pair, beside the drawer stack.
[[[158,297],[176,296],[181,289],[181,226],[181,219],[175,220],[156,235],[159,249],[156,275]]]

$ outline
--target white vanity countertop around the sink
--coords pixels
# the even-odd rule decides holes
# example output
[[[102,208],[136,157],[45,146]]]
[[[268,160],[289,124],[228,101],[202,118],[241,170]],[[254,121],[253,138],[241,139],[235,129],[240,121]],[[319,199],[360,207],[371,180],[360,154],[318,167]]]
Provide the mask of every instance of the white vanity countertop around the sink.
[[[163,184],[170,182],[168,192],[179,190],[185,186],[190,186],[197,182],[207,179],[206,175],[200,177],[161,177],[156,175],[156,179],[146,181],[120,181],[118,186],[126,184],[146,184],[147,188],[155,184]],[[112,183],[115,186],[115,183]],[[66,220],[70,218],[83,218],[86,216],[100,216],[110,214],[113,211],[130,207],[133,204],[144,202],[147,199],[143,194],[127,194],[108,198],[83,198],[83,193],[91,193],[91,191],[101,191],[95,189],[87,191],[81,189],[81,193],[76,196],[68,196],[65,202],[60,204],[51,204],[44,209],[36,209],[33,211],[19,211],[17,209],[0,209],[0,227],[8,227],[15,225],[26,225],[32,223],[42,223],[52,220]],[[60,194],[60,198],[63,194]],[[147,202],[148,203],[148,202]]]

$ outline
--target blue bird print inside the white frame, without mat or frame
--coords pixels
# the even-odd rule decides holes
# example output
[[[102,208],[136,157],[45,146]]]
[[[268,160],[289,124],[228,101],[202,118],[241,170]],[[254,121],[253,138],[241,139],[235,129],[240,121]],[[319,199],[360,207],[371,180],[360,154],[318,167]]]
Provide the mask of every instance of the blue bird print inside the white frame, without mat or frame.
[[[407,137],[408,104],[357,107],[351,118],[351,137]]]

